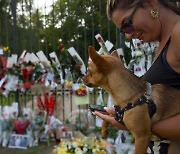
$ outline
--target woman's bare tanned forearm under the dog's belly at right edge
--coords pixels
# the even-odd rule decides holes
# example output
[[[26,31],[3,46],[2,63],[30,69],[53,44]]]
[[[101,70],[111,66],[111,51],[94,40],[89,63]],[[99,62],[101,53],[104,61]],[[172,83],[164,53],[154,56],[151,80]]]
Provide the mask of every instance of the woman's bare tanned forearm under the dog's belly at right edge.
[[[180,140],[180,114],[155,123],[152,131],[161,138]]]

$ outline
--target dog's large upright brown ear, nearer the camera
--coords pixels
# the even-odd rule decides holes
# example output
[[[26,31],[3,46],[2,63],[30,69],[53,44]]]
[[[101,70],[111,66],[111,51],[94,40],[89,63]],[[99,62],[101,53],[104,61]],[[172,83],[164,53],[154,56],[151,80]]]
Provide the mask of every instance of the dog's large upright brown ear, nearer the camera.
[[[105,59],[99,55],[96,50],[94,49],[94,47],[89,46],[88,48],[88,53],[89,53],[89,57],[91,58],[91,60],[93,61],[93,63],[96,65],[97,69],[99,70],[103,70],[103,68],[106,67],[107,69],[107,62],[105,61]]]

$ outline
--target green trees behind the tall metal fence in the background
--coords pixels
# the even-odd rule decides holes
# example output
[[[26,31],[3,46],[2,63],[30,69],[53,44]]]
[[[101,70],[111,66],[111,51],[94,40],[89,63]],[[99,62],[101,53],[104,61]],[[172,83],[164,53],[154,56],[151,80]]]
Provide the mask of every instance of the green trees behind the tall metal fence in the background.
[[[101,33],[105,39],[117,44],[115,26],[112,22],[108,23],[106,17],[106,1],[57,0],[52,11],[46,15],[39,8],[35,9],[32,2],[17,1],[18,54],[26,49],[30,52],[43,50],[46,55],[55,51],[59,55],[58,46],[63,42],[67,48],[74,46],[87,64],[88,46],[99,49],[94,39],[96,34]],[[0,4],[0,44],[10,46],[13,51],[10,2],[0,1]],[[69,58],[67,55],[61,56]],[[73,60],[69,59],[71,65],[74,65]],[[65,68],[69,67],[67,59],[60,62]]]

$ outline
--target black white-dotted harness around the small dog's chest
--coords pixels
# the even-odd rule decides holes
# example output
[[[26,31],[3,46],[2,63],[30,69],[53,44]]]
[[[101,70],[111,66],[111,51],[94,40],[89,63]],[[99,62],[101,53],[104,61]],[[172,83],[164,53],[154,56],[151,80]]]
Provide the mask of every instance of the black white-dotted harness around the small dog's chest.
[[[149,107],[149,116],[150,118],[156,113],[156,104],[152,99],[150,99],[152,95],[152,90],[151,90],[151,84],[147,83],[147,91],[144,95],[142,95],[136,102],[134,103],[128,103],[127,106],[124,108],[120,108],[119,106],[115,105],[115,120],[118,121],[119,123],[123,123],[123,116],[124,112],[127,110],[130,110],[138,105],[142,105],[144,103],[148,104]]]

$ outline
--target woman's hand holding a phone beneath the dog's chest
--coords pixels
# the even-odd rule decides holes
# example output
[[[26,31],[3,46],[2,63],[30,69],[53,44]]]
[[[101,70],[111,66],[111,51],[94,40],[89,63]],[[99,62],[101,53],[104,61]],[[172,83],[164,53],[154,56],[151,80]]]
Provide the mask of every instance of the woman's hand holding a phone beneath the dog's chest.
[[[107,111],[108,114],[103,114],[103,113],[98,112],[98,111],[93,112],[93,114],[100,117],[102,120],[110,123],[116,129],[127,130],[127,128],[124,125],[120,124],[119,122],[117,122],[114,119],[114,113],[115,113],[114,108],[105,107],[104,109]]]

